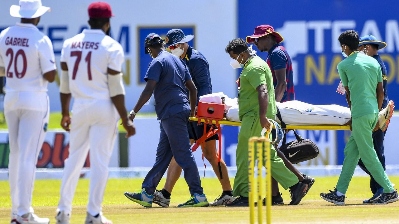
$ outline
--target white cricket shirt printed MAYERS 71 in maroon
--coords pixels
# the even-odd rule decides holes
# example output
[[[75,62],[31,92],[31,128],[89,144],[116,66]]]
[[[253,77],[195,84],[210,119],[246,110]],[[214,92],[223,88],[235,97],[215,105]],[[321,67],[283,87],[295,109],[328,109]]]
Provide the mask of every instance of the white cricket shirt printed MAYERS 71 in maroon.
[[[101,29],[84,29],[65,40],[61,51],[75,99],[110,99],[107,68],[122,71],[123,61],[122,46]]]

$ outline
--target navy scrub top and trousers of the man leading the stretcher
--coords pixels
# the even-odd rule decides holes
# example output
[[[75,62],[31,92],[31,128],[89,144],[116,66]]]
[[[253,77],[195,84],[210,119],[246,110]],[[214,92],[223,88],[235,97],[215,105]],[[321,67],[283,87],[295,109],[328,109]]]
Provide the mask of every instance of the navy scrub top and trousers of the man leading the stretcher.
[[[148,195],[155,192],[172,156],[184,171],[190,194],[203,194],[198,167],[191,151],[187,131],[190,102],[186,81],[191,79],[188,68],[176,56],[162,51],[151,61],[144,80],[155,80],[155,112],[160,120],[161,134],[155,164],[142,183]],[[142,149],[145,150],[148,149]]]

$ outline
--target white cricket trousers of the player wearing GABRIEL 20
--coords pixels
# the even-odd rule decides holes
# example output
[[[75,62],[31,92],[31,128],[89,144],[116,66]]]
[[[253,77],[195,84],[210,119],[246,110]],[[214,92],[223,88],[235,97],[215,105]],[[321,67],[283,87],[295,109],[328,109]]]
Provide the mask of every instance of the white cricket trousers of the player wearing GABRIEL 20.
[[[7,92],[4,116],[8,127],[11,213],[33,212],[36,163],[49,120],[47,92]]]

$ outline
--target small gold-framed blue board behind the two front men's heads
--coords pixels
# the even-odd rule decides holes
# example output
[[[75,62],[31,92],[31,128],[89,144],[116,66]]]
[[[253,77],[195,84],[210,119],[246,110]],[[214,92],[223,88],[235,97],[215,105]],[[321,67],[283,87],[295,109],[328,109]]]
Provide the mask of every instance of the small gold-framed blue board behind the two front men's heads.
[[[146,71],[148,68],[148,65],[152,61],[152,58],[150,55],[146,55],[144,51],[144,40],[146,39],[147,35],[150,33],[156,33],[160,35],[162,39],[165,39],[166,33],[168,33],[169,30],[171,29],[181,29],[184,34],[189,35],[189,34],[194,34],[195,35],[195,28],[194,26],[189,26],[189,27],[138,27],[138,52],[137,52],[137,63],[138,63],[138,83],[144,84],[146,83],[144,81],[144,77],[146,75]],[[195,37],[192,41],[188,42],[190,46],[195,46]],[[155,56],[154,56],[155,57]]]

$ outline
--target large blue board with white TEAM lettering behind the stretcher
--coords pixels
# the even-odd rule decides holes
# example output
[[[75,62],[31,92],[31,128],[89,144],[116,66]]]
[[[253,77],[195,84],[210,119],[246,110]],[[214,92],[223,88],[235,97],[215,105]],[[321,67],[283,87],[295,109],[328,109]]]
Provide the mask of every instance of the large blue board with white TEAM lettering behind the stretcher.
[[[238,36],[252,35],[256,26],[269,24],[283,37],[282,45],[292,59],[295,99],[311,104],[347,106],[345,97],[336,92],[340,77],[337,65],[344,59],[338,36],[354,29],[360,36],[371,34],[385,41],[379,51],[387,67],[390,100],[399,96],[399,4],[389,0],[354,1],[238,1]],[[257,48],[253,46],[255,50]],[[259,50],[257,50],[259,51]],[[257,53],[266,59],[267,52]],[[349,131],[337,131],[337,164],[342,164]]]

